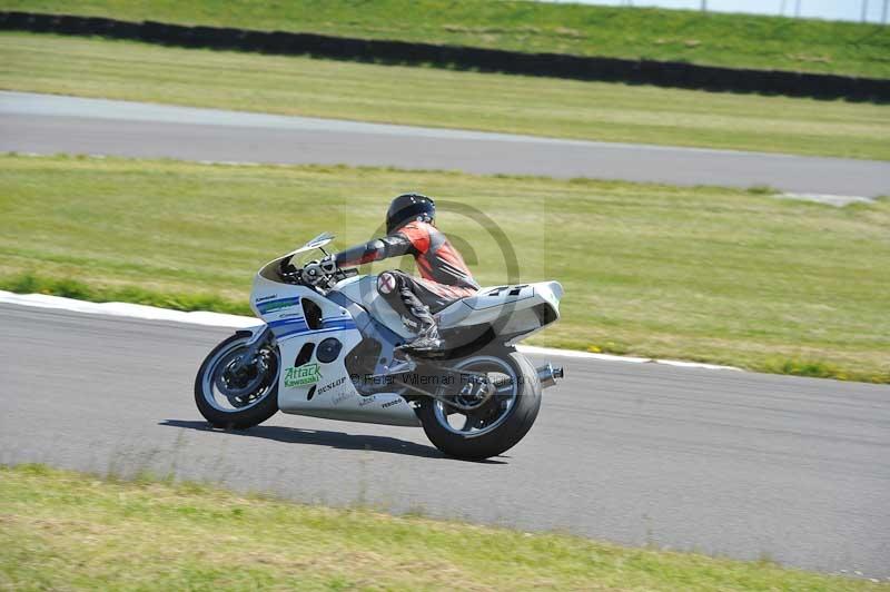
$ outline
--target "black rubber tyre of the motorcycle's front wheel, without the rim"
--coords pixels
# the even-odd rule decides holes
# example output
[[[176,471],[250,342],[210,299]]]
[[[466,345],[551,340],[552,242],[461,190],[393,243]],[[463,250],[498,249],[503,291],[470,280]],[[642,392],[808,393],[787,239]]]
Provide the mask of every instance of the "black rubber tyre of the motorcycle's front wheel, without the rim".
[[[239,345],[245,346],[249,338],[249,336],[236,334],[225,339],[207,355],[195,377],[195,404],[204,418],[214,427],[246,430],[261,424],[278,411],[278,368],[280,363],[277,351],[274,367],[269,368],[269,376],[264,378],[264,392],[258,402],[246,404],[245,408],[233,407],[228,411],[211,404],[208,398],[214,396],[214,383],[220,372],[220,362],[229,353],[236,352]]]

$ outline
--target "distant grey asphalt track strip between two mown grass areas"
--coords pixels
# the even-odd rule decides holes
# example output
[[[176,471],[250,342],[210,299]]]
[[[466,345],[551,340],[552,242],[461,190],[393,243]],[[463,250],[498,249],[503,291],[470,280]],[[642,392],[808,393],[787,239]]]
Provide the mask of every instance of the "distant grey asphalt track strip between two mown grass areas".
[[[873,160],[561,140],[27,92],[0,92],[0,151],[890,194],[890,162]]]

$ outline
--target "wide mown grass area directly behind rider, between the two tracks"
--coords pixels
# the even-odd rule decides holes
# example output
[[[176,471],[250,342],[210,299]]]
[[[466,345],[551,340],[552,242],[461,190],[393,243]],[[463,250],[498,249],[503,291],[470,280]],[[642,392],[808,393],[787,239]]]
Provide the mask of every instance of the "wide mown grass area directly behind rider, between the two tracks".
[[[510,260],[483,216],[508,238],[516,279],[563,283],[563,318],[536,344],[890,382],[888,199],[834,208],[760,189],[6,156],[0,286],[246,310],[263,263],[325,229],[338,247],[375,236],[406,190],[439,199],[481,283],[503,283]]]

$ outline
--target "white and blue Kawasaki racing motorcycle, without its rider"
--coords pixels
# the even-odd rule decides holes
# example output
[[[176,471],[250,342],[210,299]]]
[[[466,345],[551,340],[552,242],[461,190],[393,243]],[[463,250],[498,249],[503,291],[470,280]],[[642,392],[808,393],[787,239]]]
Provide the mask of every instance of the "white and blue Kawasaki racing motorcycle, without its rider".
[[[334,236],[324,233],[266,264],[250,306],[263,320],[207,356],[195,402],[216,427],[258,425],[277,411],[330,420],[422,426],[447,455],[496,456],[537,417],[543,388],[563,369],[534,367],[515,344],[560,318],[557,282],[496,286],[434,310],[446,344],[435,356],[404,353],[413,334],[377,292],[374,275],[298,266]]]

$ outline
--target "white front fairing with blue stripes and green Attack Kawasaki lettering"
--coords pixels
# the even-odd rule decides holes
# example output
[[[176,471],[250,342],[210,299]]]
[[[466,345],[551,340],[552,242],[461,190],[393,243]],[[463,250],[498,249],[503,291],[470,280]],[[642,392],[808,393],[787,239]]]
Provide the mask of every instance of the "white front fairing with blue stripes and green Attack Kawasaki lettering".
[[[369,422],[388,425],[417,426],[414,410],[395,393],[362,396],[346,371],[345,358],[362,342],[355,319],[345,308],[319,293],[304,287],[275,282],[264,276],[273,264],[264,267],[254,280],[250,306],[256,315],[271,327],[281,354],[278,378],[278,407],[285,413]],[[322,309],[317,328],[305,318],[304,299]],[[334,337],[343,344],[335,359],[318,359],[318,344]],[[299,366],[294,362],[307,343],[315,345],[312,356]]]

